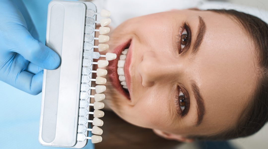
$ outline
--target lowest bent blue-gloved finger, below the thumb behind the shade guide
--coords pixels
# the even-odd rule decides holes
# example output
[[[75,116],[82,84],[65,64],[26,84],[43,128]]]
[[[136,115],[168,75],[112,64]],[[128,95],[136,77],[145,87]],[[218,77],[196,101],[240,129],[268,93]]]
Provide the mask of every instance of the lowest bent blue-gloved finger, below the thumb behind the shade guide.
[[[17,75],[14,87],[32,95],[37,95],[42,91],[43,71],[32,74],[22,71]]]

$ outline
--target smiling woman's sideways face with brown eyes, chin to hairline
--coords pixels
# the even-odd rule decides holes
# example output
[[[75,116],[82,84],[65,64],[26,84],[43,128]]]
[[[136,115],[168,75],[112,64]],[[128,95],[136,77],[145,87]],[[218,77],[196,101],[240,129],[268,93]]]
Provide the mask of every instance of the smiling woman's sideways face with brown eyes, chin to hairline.
[[[129,47],[123,68],[129,97],[118,59],[110,61],[106,105],[137,126],[183,136],[218,133],[237,123],[254,92],[254,44],[223,14],[178,10],[132,18],[108,44],[106,52],[118,59]]]

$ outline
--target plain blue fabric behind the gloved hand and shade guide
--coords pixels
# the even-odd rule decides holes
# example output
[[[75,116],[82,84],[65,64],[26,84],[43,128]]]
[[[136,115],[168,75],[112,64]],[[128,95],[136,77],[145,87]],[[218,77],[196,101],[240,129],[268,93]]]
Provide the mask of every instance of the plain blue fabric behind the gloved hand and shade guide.
[[[39,35],[39,41],[44,44],[47,6],[50,0],[23,0],[23,2]],[[34,37],[37,38],[37,35]],[[1,149],[59,149],[45,147],[38,142],[40,105],[41,94],[30,95],[0,81]],[[94,149],[94,145],[89,140],[84,148]]]

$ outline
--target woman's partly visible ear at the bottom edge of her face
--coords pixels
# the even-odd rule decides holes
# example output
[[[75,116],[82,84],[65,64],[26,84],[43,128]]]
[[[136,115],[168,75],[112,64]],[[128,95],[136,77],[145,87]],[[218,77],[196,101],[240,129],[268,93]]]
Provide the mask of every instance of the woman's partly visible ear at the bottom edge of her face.
[[[155,134],[157,134],[158,136],[160,137],[163,137],[165,139],[169,139],[169,140],[177,140],[177,141],[180,141],[180,142],[192,142],[194,141],[193,139],[187,139],[181,135],[176,135],[176,134],[173,134],[173,133],[169,133],[169,132],[164,132],[164,131],[161,131],[161,130],[158,130],[158,129],[153,129],[153,132]]]

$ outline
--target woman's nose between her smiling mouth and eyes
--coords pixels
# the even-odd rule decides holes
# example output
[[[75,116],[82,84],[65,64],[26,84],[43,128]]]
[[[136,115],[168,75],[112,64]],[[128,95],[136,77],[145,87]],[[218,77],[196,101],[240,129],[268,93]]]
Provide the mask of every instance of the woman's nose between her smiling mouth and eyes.
[[[157,55],[154,51],[147,51],[143,54],[142,62],[138,65],[138,72],[142,76],[144,87],[151,87],[161,80],[168,81],[171,75],[178,73],[176,66],[169,59],[163,55]]]

